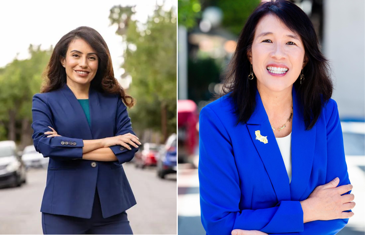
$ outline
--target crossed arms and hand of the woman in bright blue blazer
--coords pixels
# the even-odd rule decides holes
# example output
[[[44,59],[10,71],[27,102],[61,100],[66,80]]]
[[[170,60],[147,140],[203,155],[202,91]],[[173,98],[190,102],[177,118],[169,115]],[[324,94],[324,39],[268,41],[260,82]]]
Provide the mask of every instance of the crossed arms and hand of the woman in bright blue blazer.
[[[200,207],[201,221],[207,234],[228,235],[239,229],[246,230],[246,234],[330,235],[336,234],[345,227],[347,218],[353,215],[350,212],[354,206],[354,203],[350,203],[353,195],[349,195],[352,186],[348,185],[350,181],[343,153],[342,131],[336,103],[327,124],[327,154],[333,157],[327,159],[326,182],[339,177],[339,181],[334,186],[339,185],[339,187],[319,186],[322,187],[320,193],[323,194],[326,190],[325,194],[334,196],[331,198],[334,199],[331,203],[336,204],[337,208],[336,215],[331,215],[332,217],[323,211],[323,207],[318,203],[324,200],[317,200],[315,206],[313,206],[314,200],[310,200],[312,204],[310,206],[303,205],[303,201],[280,201],[272,208],[240,210],[238,208],[241,198],[240,182],[230,137],[218,116],[209,107],[201,110],[199,122]],[[329,204],[330,202],[326,202],[326,205]],[[331,208],[328,209],[331,210]],[[342,211],[347,212],[343,214]],[[316,213],[315,216],[311,214],[313,212]]]

